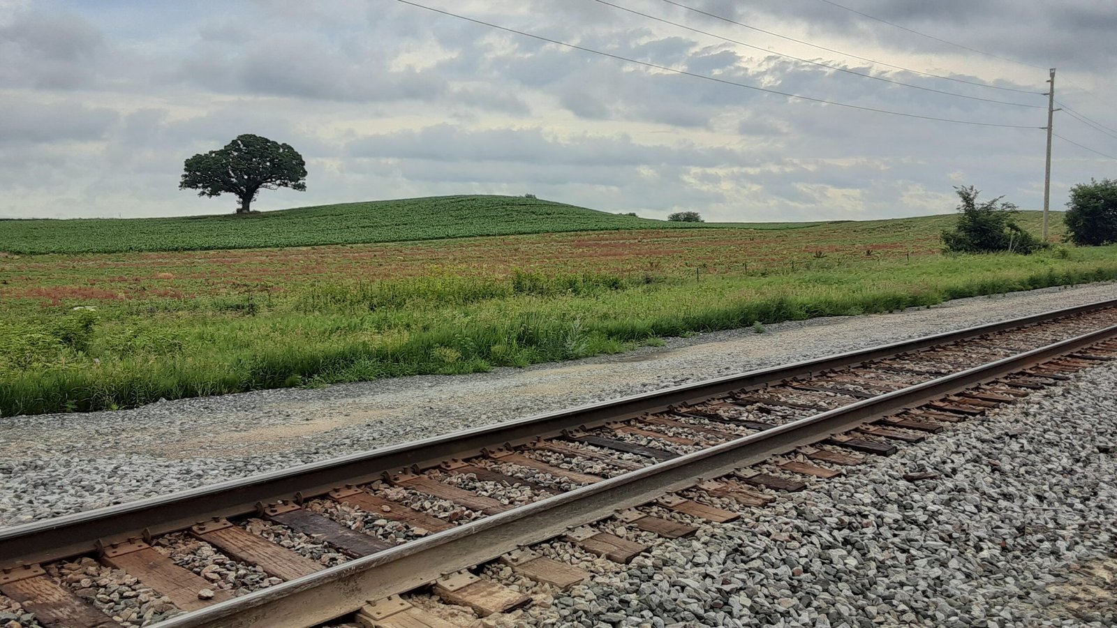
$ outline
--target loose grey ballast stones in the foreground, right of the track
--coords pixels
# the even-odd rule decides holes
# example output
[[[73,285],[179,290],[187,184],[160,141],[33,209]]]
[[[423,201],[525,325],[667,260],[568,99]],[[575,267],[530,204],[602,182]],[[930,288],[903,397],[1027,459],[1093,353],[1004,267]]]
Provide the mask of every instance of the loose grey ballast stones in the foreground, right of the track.
[[[1091,369],[660,540],[519,625],[1117,626],[1115,382],[1117,364]],[[901,479],[916,470],[941,478]]]

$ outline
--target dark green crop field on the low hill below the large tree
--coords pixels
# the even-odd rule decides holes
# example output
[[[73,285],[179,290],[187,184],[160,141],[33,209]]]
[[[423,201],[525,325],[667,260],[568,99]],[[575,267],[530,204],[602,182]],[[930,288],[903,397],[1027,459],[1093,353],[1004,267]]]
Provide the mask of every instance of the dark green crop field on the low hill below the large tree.
[[[761,222],[750,227],[804,225]],[[523,197],[462,196],[303,207],[248,216],[0,220],[0,251],[217,250],[695,226]]]

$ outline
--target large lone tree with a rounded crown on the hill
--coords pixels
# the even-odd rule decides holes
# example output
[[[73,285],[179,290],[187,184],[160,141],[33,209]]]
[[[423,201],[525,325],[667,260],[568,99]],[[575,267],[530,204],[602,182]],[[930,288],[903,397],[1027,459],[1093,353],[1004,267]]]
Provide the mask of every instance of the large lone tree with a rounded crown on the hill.
[[[261,189],[290,188],[306,191],[306,162],[290,144],[259,135],[238,135],[219,151],[197,154],[185,162],[180,190],[198,190],[199,197],[226,192],[240,199],[237,213],[248,213]]]

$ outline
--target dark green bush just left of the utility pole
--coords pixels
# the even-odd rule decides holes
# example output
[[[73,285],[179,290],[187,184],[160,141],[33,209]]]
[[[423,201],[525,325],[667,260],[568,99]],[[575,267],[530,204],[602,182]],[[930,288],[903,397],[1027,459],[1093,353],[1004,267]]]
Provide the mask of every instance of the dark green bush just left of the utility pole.
[[[1035,236],[1016,225],[1016,206],[1002,201],[1004,197],[977,203],[981,190],[973,185],[954,190],[962,200],[958,203],[958,225],[953,231],[943,231],[946,250],[957,253],[995,253],[1001,250],[1028,255],[1043,247]]]

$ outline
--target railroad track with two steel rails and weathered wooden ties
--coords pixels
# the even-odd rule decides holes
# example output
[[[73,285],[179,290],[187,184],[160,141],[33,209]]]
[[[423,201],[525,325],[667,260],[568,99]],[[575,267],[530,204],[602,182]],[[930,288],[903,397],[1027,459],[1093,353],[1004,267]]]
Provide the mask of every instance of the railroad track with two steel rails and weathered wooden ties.
[[[1115,336],[1102,302],[0,530],[0,609],[44,628],[455,626],[401,594],[515,609],[529,598],[469,570],[569,587],[588,573],[548,543],[627,562],[1111,361]],[[142,594],[162,607],[120,610]]]

